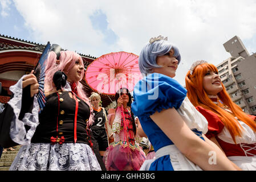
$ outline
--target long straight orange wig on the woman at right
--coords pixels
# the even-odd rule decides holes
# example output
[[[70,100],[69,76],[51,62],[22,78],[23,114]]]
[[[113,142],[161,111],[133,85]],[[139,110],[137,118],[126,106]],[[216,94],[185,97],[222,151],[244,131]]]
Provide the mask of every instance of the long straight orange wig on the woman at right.
[[[241,137],[242,134],[242,127],[237,119],[235,119],[235,117],[246,123],[246,125],[250,126],[253,131],[256,131],[256,123],[253,121],[253,119],[251,119],[246,113],[242,111],[241,107],[236,105],[231,100],[222,82],[221,85],[223,89],[217,94],[217,96],[223,104],[218,102],[218,106],[214,104],[214,102],[208,97],[208,94],[205,92],[202,82],[204,76],[209,70],[218,73],[218,69],[213,64],[204,63],[197,65],[196,68],[194,68],[192,75],[190,75],[190,71],[188,71],[188,73],[186,74],[186,89],[188,90],[188,98],[192,102],[192,104],[195,107],[201,106],[204,107],[204,109],[208,109],[210,111],[213,111],[213,113],[217,114],[221,121],[224,122],[227,130],[229,130],[229,133],[231,134],[234,142],[235,137]],[[229,107],[233,114],[222,109],[220,106]]]

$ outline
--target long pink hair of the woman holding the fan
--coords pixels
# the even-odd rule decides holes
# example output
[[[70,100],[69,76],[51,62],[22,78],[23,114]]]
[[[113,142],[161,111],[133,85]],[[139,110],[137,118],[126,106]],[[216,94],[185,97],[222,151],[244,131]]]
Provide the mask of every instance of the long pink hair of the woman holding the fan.
[[[54,82],[52,80],[54,73],[56,71],[63,71],[64,73],[68,73],[72,67],[74,67],[75,62],[79,60],[80,63],[82,63],[83,67],[83,59],[78,53],[73,51],[60,51],[60,63],[57,64],[56,61],[56,53],[51,51],[48,54],[47,58],[47,65],[46,65],[46,78],[44,79],[44,90],[45,92],[52,92],[56,91],[56,86],[54,85]],[[89,98],[86,96],[86,93],[83,90],[83,84],[80,83],[80,81],[83,79],[84,76],[84,69],[82,70],[81,78],[78,82],[76,82],[76,89],[78,90],[78,97],[82,98],[86,104],[90,107],[90,118],[88,119],[87,125],[91,125],[93,122],[92,119],[92,106],[90,104]]]

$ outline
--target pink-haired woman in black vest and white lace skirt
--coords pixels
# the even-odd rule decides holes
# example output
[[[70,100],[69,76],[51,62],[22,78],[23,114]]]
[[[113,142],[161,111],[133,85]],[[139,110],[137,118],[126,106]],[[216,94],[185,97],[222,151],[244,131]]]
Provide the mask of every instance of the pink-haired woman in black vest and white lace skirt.
[[[14,93],[9,103],[14,109],[10,136],[22,145],[10,170],[105,169],[88,129],[92,114],[89,99],[79,82],[84,75],[82,57],[72,51],[60,51],[59,60],[56,57],[55,52],[49,52],[44,80],[47,101],[40,114],[34,98],[32,109],[23,118],[19,117],[23,110],[22,84],[28,75],[10,88]],[[60,75],[57,81],[55,73]]]

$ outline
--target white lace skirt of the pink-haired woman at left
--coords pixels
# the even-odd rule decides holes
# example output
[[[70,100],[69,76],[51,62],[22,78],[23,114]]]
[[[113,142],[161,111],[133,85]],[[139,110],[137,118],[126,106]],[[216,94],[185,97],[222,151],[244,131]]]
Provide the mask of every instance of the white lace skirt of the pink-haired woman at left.
[[[18,171],[100,171],[91,147],[84,143],[31,143],[22,146],[10,170]]]

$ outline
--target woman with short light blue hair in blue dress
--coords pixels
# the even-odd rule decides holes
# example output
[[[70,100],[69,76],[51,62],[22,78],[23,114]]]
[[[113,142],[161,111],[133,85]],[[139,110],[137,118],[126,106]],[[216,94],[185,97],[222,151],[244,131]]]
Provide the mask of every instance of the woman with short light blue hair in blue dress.
[[[161,59],[159,59],[160,57]],[[152,117],[157,112],[161,114],[164,110],[174,108],[181,116],[181,121],[183,120],[182,122],[189,127],[189,132],[192,131],[192,134],[190,134],[192,138],[196,138],[198,143],[206,143],[203,136],[208,131],[208,122],[186,97],[186,89],[172,78],[175,76],[180,60],[181,56],[178,48],[162,36],[152,38],[140,53],[139,68],[141,73],[146,76],[137,82],[133,90],[132,111],[139,117],[141,126],[156,151],[156,158],[145,160],[140,170],[211,169],[210,166],[199,166],[194,159],[189,160],[184,147],[180,147],[182,142],[177,142],[177,138],[182,138],[182,134],[177,133],[177,136],[171,140],[172,137],[165,134],[166,130],[162,127],[162,124],[159,124],[157,119]],[[163,71],[163,74],[158,71],[159,69]],[[173,115],[166,118],[166,120],[172,120]],[[169,129],[173,130],[172,125]],[[185,143],[189,142],[184,141]],[[225,169],[232,169],[232,167]]]

